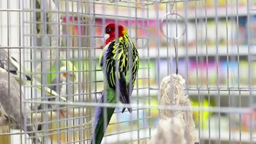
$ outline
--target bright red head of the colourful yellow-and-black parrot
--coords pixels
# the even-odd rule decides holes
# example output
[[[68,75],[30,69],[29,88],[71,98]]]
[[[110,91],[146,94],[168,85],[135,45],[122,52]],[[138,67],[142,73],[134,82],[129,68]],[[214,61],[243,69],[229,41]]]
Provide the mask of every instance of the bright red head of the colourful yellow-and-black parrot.
[[[115,25],[115,23],[109,23],[108,26],[105,28],[105,33],[109,35],[109,37],[106,40],[105,45],[107,45],[109,42],[113,41],[113,39],[116,38],[116,27],[118,26],[118,37],[122,37],[125,34],[127,34],[126,28],[124,28],[121,25]],[[102,46],[103,49],[104,46]]]

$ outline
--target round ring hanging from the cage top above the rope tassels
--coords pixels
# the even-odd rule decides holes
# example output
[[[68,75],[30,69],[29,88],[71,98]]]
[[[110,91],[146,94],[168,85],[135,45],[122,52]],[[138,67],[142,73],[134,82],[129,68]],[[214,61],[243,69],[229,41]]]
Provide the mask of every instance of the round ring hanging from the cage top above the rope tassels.
[[[164,33],[164,30],[163,30],[163,24],[164,24],[164,20],[166,20],[166,18],[168,17],[168,15],[177,15],[178,17],[180,17],[182,19],[182,21],[184,22],[184,28],[183,28],[183,31],[182,31],[182,34],[180,36],[177,36],[177,37],[167,37]],[[167,26],[166,26],[167,27]],[[185,22],[185,19],[178,13],[175,13],[175,12],[170,12],[170,13],[167,13],[161,20],[161,25],[160,25],[160,30],[161,30],[161,33],[164,35],[164,37],[168,38],[168,39],[173,39],[174,41],[175,40],[178,40],[180,39],[183,35],[185,35],[185,31],[186,31],[186,22]]]

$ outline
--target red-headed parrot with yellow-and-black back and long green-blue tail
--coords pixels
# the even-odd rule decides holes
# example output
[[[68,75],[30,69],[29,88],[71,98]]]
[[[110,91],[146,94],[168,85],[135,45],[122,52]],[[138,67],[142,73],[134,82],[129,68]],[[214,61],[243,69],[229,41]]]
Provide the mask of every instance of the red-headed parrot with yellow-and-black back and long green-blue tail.
[[[118,41],[115,39],[115,28],[118,29]],[[129,104],[130,96],[133,91],[135,78],[139,69],[139,53],[127,33],[127,29],[115,23],[109,23],[105,28],[105,33],[109,35],[99,57],[100,67],[103,71],[105,89],[101,93],[99,103],[116,103],[116,92],[119,93],[119,100]],[[116,68],[119,70],[117,71]],[[116,85],[116,76],[118,86]],[[132,113],[131,108],[127,108]],[[123,108],[122,113],[125,108]],[[94,115],[94,122],[91,131],[91,144],[99,144],[107,129],[104,122],[109,124],[115,108],[106,108],[107,116],[103,116],[103,107],[97,107]]]

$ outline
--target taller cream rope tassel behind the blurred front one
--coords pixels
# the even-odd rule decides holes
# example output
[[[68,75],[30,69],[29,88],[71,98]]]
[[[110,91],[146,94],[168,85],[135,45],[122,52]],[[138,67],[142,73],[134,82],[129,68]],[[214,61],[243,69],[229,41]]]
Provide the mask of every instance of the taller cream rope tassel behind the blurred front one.
[[[183,93],[185,89],[185,79],[180,75],[171,74],[163,78],[159,90],[159,105],[190,107],[190,100],[188,95]],[[182,115],[182,116],[180,116]],[[160,119],[180,118],[180,124],[183,124],[185,131],[185,138],[187,143],[199,142],[195,123],[193,121],[193,111],[191,110],[160,110]]]

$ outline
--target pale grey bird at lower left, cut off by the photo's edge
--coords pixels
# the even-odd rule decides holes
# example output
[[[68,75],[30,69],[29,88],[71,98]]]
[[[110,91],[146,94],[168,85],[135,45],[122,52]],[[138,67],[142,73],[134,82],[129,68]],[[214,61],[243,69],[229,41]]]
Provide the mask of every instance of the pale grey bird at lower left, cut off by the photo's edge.
[[[3,111],[1,119],[7,119],[7,117],[10,116],[11,120],[23,131],[25,131],[26,128],[27,132],[33,132],[34,127],[33,125],[30,125],[31,119],[28,116],[26,119],[24,117],[26,112],[28,114],[31,113],[29,106],[18,104],[20,103],[20,99],[24,99],[22,92],[20,95],[20,85],[12,75],[10,75],[10,79],[8,77],[8,72],[5,69],[0,68],[0,106]],[[25,121],[28,124],[27,127],[24,127]],[[28,133],[28,135],[34,137],[34,143],[41,143],[39,139],[36,139],[35,133]]]

